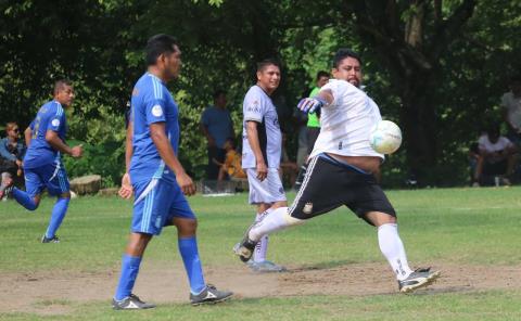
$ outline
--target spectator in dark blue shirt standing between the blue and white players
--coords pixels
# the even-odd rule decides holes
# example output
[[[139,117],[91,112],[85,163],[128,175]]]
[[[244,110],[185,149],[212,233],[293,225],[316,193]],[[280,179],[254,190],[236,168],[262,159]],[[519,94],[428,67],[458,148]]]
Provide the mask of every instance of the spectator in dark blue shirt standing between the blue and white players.
[[[206,178],[216,180],[219,175],[218,163],[225,162],[226,150],[225,142],[229,137],[234,137],[233,121],[230,112],[226,108],[226,92],[217,90],[214,93],[214,104],[208,106],[201,116],[200,128],[206,137],[208,151],[208,165],[206,167]]]

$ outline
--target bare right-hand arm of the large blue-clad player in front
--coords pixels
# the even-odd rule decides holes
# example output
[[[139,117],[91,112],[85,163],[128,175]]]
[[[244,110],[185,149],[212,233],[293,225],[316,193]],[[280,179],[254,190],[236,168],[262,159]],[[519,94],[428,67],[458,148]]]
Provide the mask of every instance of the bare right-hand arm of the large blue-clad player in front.
[[[150,137],[160,153],[161,158],[176,174],[176,180],[186,195],[195,194],[195,185],[192,179],[185,172],[181,163],[177,159],[174,149],[165,133],[165,123],[153,123],[150,125]]]

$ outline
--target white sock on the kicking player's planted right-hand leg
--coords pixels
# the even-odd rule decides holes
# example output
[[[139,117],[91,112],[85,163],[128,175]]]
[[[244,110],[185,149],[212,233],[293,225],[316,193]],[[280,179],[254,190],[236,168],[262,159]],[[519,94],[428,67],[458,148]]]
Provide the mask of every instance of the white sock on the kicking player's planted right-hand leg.
[[[405,280],[412,270],[409,268],[404,243],[398,235],[398,226],[392,223],[380,226],[378,228],[378,244],[394,273],[396,273],[396,279]]]

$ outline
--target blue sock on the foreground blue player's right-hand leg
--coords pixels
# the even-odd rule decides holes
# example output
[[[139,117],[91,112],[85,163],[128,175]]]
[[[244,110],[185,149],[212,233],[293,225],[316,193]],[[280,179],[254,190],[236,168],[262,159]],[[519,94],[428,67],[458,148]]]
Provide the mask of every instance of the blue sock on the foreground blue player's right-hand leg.
[[[179,239],[178,246],[190,282],[190,292],[199,294],[204,290],[206,283],[204,283],[203,269],[199,259],[198,240],[195,236]]]

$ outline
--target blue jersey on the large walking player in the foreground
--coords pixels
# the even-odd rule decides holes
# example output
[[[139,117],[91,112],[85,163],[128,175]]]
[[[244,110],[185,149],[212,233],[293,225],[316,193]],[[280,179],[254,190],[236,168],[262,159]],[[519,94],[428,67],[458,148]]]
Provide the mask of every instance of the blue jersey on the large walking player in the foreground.
[[[134,123],[130,179],[132,183],[150,181],[152,178],[176,182],[171,169],[165,166],[152,138],[150,125],[165,123],[165,134],[177,155],[179,144],[179,110],[165,84],[145,73],[134,87],[131,119]]]

